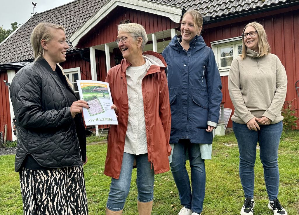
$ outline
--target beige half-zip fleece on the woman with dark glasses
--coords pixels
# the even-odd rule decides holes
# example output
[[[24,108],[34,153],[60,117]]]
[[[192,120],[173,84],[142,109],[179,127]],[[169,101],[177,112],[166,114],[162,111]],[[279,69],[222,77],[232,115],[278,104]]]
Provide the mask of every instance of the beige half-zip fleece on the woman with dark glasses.
[[[286,70],[278,57],[247,49],[244,60],[236,57],[228,75],[228,90],[234,105],[231,120],[246,124],[254,116],[266,116],[271,124],[283,120],[280,110],[286,98]]]

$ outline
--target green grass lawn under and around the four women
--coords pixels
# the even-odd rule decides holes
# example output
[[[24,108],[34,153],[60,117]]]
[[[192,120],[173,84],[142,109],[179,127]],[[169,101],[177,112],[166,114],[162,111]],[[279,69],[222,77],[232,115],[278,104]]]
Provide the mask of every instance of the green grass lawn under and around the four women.
[[[111,179],[103,174],[106,144],[87,146],[88,163],[84,166],[90,215],[105,214]],[[213,142],[212,160],[206,164],[206,196],[202,215],[237,215],[244,197],[238,172],[239,152],[233,133],[217,136]],[[14,156],[0,156],[0,214],[21,215],[22,199],[19,173],[14,172]],[[187,163],[188,166],[189,163]],[[188,167],[190,170],[190,168]],[[283,134],[279,148],[280,189],[279,200],[289,215],[299,214],[299,132]],[[190,171],[189,171],[190,172]],[[255,213],[270,215],[268,199],[260,163],[259,150],[255,166]],[[124,208],[124,215],[138,214],[136,170],[133,170],[131,190]],[[155,176],[153,215],[177,215],[181,205],[171,172]]]

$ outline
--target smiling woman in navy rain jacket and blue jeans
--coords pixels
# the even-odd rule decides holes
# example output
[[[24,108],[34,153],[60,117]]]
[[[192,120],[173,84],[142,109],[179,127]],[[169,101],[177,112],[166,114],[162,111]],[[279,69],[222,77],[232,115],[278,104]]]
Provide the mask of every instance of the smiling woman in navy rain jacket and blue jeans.
[[[200,36],[202,23],[198,11],[187,11],[181,23],[182,38],[175,36],[162,53],[167,63],[171,108],[170,167],[184,206],[179,215],[202,212],[205,159],[211,159],[212,130],[218,125],[222,101],[215,56]],[[188,156],[192,193],[185,167]]]

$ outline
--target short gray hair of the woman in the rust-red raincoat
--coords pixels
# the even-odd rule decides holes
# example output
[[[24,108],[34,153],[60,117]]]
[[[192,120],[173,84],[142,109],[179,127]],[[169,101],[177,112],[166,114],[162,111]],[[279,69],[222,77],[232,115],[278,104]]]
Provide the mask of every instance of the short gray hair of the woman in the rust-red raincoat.
[[[145,32],[145,29],[141,24],[137,24],[137,23],[119,24],[117,30],[130,33],[136,37],[141,37],[142,38],[141,51],[143,51],[145,45],[147,44],[147,33]]]

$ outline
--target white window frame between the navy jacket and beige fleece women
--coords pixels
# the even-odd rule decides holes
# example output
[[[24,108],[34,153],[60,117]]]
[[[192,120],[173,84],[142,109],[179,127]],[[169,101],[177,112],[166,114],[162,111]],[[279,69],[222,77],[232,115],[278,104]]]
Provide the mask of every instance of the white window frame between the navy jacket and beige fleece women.
[[[218,69],[219,69],[220,76],[228,76],[228,71],[230,69],[230,66],[219,67],[219,65],[220,65],[220,52],[218,51],[219,48],[229,47],[231,45],[234,45],[233,46],[233,48],[234,48],[233,58],[235,58],[239,55],[238,54],[238,45],[239,44],[242,44],[242,36],[211,42],[212,50],[215,55],[215,59],[216,59],[216,63],[217,63]]]

